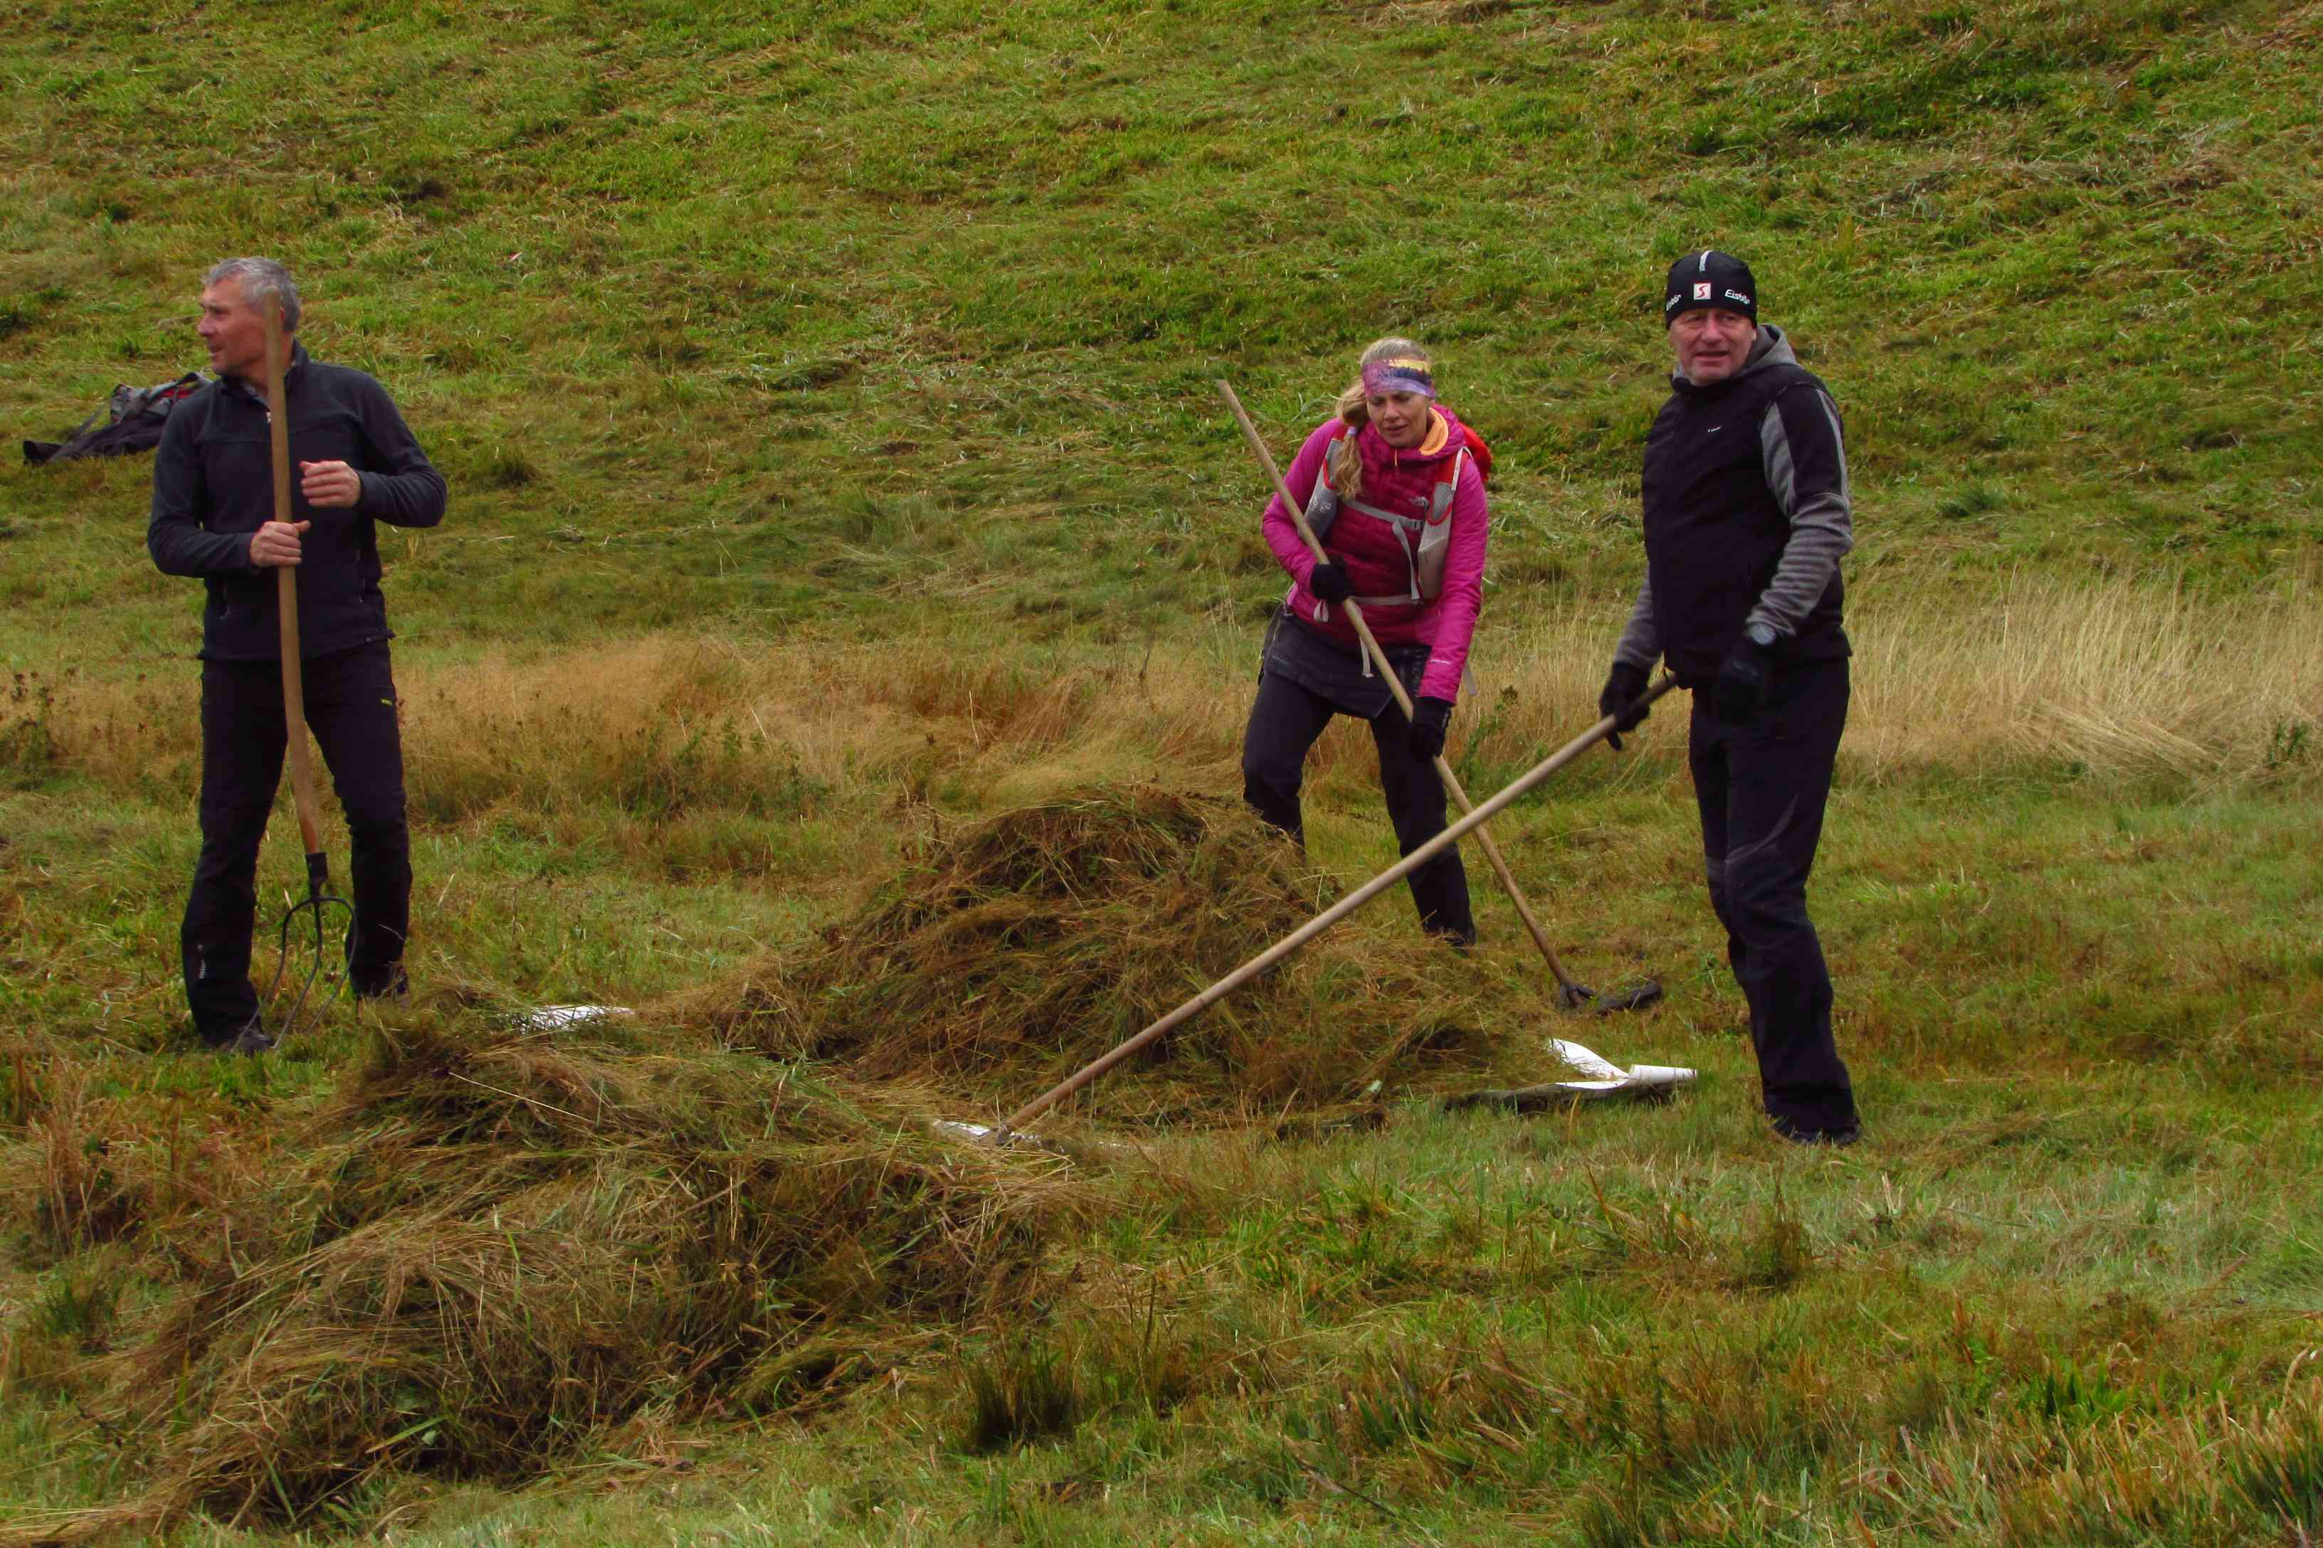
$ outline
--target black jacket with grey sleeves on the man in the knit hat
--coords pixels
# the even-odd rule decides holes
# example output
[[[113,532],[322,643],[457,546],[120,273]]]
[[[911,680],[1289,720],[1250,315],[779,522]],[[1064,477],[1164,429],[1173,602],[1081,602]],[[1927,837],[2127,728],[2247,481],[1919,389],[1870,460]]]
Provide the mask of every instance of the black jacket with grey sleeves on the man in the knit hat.
[[[1831,390],[1772,325],[1726,381],[1670,385],[1645,441],[1645,583],[1614,657],[1647,671],[1668,657],[1698,687],[1749,624],[1772,629],[1777,661],[1849,654],[1854,520]]]

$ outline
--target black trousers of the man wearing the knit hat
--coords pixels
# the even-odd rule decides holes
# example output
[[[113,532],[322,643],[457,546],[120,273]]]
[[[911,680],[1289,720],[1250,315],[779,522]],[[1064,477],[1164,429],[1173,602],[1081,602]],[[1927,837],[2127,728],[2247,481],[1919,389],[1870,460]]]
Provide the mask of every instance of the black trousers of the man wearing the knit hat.
[[[1844,724],[1847,661],[1803,661],[1775,673],[1768,708],[1742,726],[1712,712],[1707,689],[1696,692],[1686,752],[1710,907],[1749,998],[1761,1100],[1777,1128],[1803,1137],[1856,1126],[1831,1037],[1824,942],[1807,919],[1807,873]]]

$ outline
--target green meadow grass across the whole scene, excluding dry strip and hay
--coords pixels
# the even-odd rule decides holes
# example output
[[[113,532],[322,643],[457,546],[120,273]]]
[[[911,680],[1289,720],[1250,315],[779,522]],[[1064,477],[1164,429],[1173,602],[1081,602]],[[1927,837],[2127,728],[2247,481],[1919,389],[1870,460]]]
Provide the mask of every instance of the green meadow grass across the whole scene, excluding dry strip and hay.
[[[806,777],[787,805],[718,780],[678,801],[643,754],[590,761],[569,801],[416,775],[427,970],[630,998],[832,917],[892,854],[899,798],[976,808],[1155,752],[1076,761],[952,689],[1006,703],[1159,643],[1238,692],[1275,583],[1220,371],[1287,443],[1371,334],[1440,343],[1508,466],[1487,654],[1573,606],[1610,631],[1656,276],[1696,241],[1756,260],[1837,385],[1882,592],[2307,569],[2318,39],[2314,5],[2142,0],[19,7],[0,418],[42,434],[186,369],[200,265],[279,251],[311,276],[311,343],[379,371],[458,490],[393,552],[413,675],[578,680],[599,641],[660,629],[892,643],[929,761]],[[88,701],[172,715],[186,673],[190,587],[135,543],[142,478],[0,469],[0,659],[30,673],[0,706],[19,1198],[51,1119],[256,1144],[353,1040],[262,1070],[170,1054],[181,764],[74,743]],[[929,666],[945,650],[992,668]],[[1217,726],[1189,747],[1192,777],[1231,780]],[[2058,773],[1951,766],[1835,803],[1819,910],[1865,1151],[1752,1133],[1661,757],[1526,808],[1508,842],[1540,894],[1589,900],[1566,926],[1584,972],[1670,982],[1605,1042],[1703,1065],[1700,1098],[1168,1153],[1076,1249],[1055,1330],[978,1330],[964,1367],[925,1360],[804,1432],[653,1420],[555,1490],[437,1502],[425,1536],[606,1541],[671,1509],[704,1541],[2323,1525],[2323,1200],[2311,1105],[2281,1088],[2314,1075],[2323,1000],[2307,782]],[[1317,852],[1382,861],[1345,747],[1317,796]],[[1531,1035],[1538,972],[1484,912],[1475,1014]],[[1412,949],[1391,907],[1354,928]],[[12,1337],[70,1337],[63,1293],[107,1258],[7,1251]],[[1178,1376],[1120,1355],[1145,1325]],[[1043,1348],[1087,1423],[962,1448],[964,1372]],[[19,1390],[0,1499],[114,1488],[74,1409]]]

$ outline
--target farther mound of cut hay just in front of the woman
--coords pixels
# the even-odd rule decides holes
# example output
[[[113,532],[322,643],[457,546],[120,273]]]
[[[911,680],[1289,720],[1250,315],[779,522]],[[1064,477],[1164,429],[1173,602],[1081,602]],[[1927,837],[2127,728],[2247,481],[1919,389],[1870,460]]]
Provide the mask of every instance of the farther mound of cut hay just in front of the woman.
[[[850,921],[671,1017],[850,1079],[918,1082],[1006,1109],[1152,1023],[1336,898],[1238,801],[1087,789],[927,842]],[[1405,910],[1382,898],[1378,910]],[[1257,1114],[1440,1063],[1454,959],[1417,931],[1389,954],[1331,938],[1108,1077],[1110,1121]],[[1433,979],[1433,982],[1431,982]]]

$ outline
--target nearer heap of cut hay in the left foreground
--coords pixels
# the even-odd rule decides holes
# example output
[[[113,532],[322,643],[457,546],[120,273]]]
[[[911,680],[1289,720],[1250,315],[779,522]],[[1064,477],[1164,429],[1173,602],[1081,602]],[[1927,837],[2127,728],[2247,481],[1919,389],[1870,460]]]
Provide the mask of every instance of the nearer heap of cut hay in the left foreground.
[[[769,1411],[1024,1293],[1057,1163],[941,1146],[750,1054],[383,1042],[276,1181],[172,1242],[188,1290],[105,1416],[144,1492],[304,1522],[393,1474],[520,1478],[641,1411]]]

